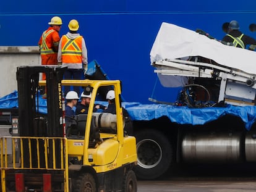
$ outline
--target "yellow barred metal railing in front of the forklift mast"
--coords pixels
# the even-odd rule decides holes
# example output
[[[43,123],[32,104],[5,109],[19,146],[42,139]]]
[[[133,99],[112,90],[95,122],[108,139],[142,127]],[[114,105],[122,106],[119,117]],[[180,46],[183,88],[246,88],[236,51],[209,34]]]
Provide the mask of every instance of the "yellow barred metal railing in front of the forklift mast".
[[[17,146],[20,146],[20,148],[17,148]],[[3,192],[6,191],[7,169],[19,169],[21,171],[29,169],[62,170],[64,191],[68,191],[67,138],[4,136],[0,138],[0,148],[1,184]],[[12,158],[9,162],[7,158],[8,151],[12,152]],[[57,156],[60,158],[56,158]],[[19,162],[16,162],[17,159],[19,159]],[[43,159],[45,162],[43,162]]]

